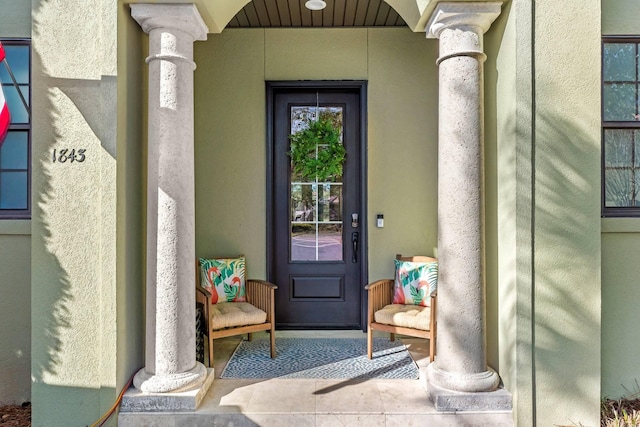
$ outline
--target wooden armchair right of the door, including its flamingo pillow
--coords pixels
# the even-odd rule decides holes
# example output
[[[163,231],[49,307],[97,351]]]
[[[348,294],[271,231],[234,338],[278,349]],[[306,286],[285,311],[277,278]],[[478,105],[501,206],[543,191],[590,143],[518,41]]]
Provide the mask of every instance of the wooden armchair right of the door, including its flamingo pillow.
[[[436,354],[438,261],[426,256],[396,255],[394,279],[365,286],[368,291],[367,356],[373,357],[373,331],[425,338],[429,358]]]

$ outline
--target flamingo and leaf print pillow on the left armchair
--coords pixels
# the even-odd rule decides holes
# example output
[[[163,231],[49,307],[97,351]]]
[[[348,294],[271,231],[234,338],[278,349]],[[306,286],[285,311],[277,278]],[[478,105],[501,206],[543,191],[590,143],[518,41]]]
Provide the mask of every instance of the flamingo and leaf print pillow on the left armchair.
[[[211,304],[246,301],[244,271],[244,257],[200,258],[200,286],[211,292]]]

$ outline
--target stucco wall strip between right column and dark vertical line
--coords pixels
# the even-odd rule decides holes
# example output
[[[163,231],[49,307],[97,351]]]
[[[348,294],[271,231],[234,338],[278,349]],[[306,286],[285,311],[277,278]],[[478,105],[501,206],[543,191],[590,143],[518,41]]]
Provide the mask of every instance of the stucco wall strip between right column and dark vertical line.
[[[532,60],[530,2],[515,1],[487,34],[487,50],[497,50],[495,67],[497,132],[497,240],[499,366],[513,394],[514,419],[534,425],[532,380]],[[490,73],[491,57],[487,61]],[[487,95],[489,96],[489,95]],[[490,111],[487,116],[491,117]],[[487,121],[489,121],[488,119]]]

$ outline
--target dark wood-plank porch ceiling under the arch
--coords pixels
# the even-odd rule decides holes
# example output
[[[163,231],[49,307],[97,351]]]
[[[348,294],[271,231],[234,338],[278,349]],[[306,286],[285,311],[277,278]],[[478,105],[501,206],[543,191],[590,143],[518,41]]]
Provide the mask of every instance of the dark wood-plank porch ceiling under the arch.
[[[383,0],[326,0],[327,7],[311,12],[306,0],[253,0],[228,28],[277,27],[404,27],[400,15]]]

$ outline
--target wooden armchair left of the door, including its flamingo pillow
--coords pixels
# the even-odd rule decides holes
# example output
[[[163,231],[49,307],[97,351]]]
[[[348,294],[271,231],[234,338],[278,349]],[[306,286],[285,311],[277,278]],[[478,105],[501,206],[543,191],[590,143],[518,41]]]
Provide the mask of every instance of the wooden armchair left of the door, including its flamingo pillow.
[[[200,258],[196,261],[196,301],[204,306],[209,337],[209,367],[213,367],[213,340],[269,331],[271,358],[275,357],[275,290],[265,280],[245,279],[245,258]]]

